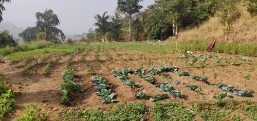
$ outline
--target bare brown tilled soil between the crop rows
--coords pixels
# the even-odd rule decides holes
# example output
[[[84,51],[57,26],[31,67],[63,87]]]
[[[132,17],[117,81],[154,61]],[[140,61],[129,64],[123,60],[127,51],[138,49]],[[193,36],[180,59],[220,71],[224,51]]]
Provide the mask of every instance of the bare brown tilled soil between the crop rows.
[[[80,61],[82,57],[82,53],[74,54],[72,58],[72,67],[76,68],[76,76],[75,81],[85,87],[86,91],[83,93],[75,93],[72,96],[71,102],[74,103],[74,106],[65,106],[60,104],[60,94],[58,90],[60,89],[60,85],[62,84],[62,72],[64,72],[67,68],[67,60],[70,55],[55,53],[51,54],[49,60],[54,60],[58,55],[62,55],[62,59],[58,63],[54,63],[50,77],[46,77],[43,74],[44,68],[46,66],[46,62],[41,62],[40,60],[36,64],[35,60],[31,63],[33,64],[33,68],[30,70],[33,73],[31,76],[22,74],[22,69],[17,68],[18,65],[24,65],[24,59],[21,59],[17,64],[10,65],[10,62],[6,60],[7,63],[0,64],[0,74],[5,77],[5,82],[8,86],[11,86],[14,91],[20,92],[20,95],[16,95],[16,107],[12,111],[12,113],[3,120],[15,120],[17,116],[22,114],[26,106],[31,104],[38,104],[42,111],[47,111],[50,114],[50,120],[57,119],[59,114],[65,112],[67,109],[72,107],[76,107],[78,105],[86,108],[97,108],[97,107],[104,107],[104,108],[111,108],[114,104],[102,104],[101,99],[102,97],[98,96],[94,90],[94,85],[90,81],[91,75],[99,74],[109,80],[111,84],[113,92],[117,94],[116,98],[119,100],[119,104],[127,104],[131,102],[140,102],[139,99],[135,97],[135,93],[139,89],[146,89],[146,94],[148,96],[153,96],[154,94],[162,94],[166,93],[159,88],[156,88],[154,85],[146,82],[139,76],[130,75],[129,77],[135,82],[139,83],[139,89],[132,89],[129,86],[125,85],[120,79],[117,79],[111,74],[113,69],[120,69],[123,70],[126,67],[130,67],[131,69],[136,69],[139,67],[143,67],[144,69],[148,69],[150,67],[161,67],[163,65],[170,65],[171,63],[173,66],[178,66],[180,70],[189,71],[195,75],[204,75],[208,77],[208,81],[211,84],[217,84],[222,82],[227,85],[234,85],[236,89],[247,89],[256,91],[257,80],[256,80],[256,69],[251,69],[253,66],[256,68],[257,58],[251,57],[253,59],[252,62],[249,64],[242,64],[241,66],[232,66],[226,65],[224,66],[214,66],[215,59],[208,59],[206,62],[206,66],[208,68],[193,68],[187,66],[184,60],[176,59],[179,52],[175,53],[161,53],[161,52],[154,52],[154,53],[145,53],[137,50],[128,51],[122,49],[116,50],[109,50],[109,53],[114,57],[113,60],[106,60],[107,55],[104,55],[103,52],[99,52],[100,60],[97,61],[94,54],[94,51],[91,51],[87,56],[86,59],[93,63],[94,71],[92,73],[87,72],[88,67],[86,64]],[[214,54],[209,52],[202,52],[198,51],[194,54]],[[143,55],[142,58],[139,58],[140,55]],[[227,54],[221,54],[222,56],[231,56]],[[146,61],[144,59],[146,57]],[[235,56],[235,55],[232,55]],[[230,60],[230,62],[241,62],[236,59]],[[242,62],[241,62],[242,63]],[[214,78],[214,73],[217,74],[217,77]],[[147,73],[150,75],[150,73]],[[159,75],[154,75],[157,79],[157,83],[159,82],[169,82],[174,86],[175,89],[181,90],[187,96],[186,99],[176,99],[169,95],[168,99],[171,101],[181,102],[182,105],[186,109],[190,109],[189,106],[193,103],[200,102],[201,99],[196,99],[197,96],[203,95],[206,97],[208,101],[213,100],[213,96],[224,92],[223,90],[207,85],[203,82],[197,82],[192,78],[186,76],[178,76],[176,73],[169,72],[172,75],[172,79],[181,79],[181,82],[185,84],[193,84],[200,86],[203,91],[195,92],[185,85],[177,85],[172,82],[172,80],[164,78]],[[245,75],[250,75],[251,80],[244,79]],[[234,96],[236,100],[243,100],[245,98],[249,99],[248,97],[240,97],[236,96],[232,93],[228,93]],[[251,98],[253,102],[257,102],[256,92],[254,93],[254,97]],[[147,109],[151,110],[153,103],[149,102],[149,100],[142,100],[143,104],[146,106]],[[152,119],[151,113],[146,115],[148,120]],[[196,116],[196,120],[203,120],[199,116]]]

